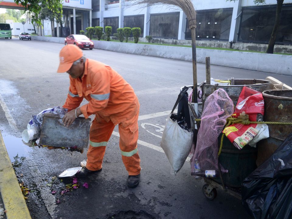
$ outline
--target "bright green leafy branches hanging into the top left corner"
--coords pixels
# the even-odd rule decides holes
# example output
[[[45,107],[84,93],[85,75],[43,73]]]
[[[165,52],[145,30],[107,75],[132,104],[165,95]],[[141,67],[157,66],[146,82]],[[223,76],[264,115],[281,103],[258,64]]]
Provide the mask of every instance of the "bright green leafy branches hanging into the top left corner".
[[[50,9],[54,18],[62,18],[62,0],[14,0],[17,5],[22,5],[25,7],[25,11],[32,13],[31,21],[32,23],[37,23],[41,25],[41,18],[39,16],[42,6]]]

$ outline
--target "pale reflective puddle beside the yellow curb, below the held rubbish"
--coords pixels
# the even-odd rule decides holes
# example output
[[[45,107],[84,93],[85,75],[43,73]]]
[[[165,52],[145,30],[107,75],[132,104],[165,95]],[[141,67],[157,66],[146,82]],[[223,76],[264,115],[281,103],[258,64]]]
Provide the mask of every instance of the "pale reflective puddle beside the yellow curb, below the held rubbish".
[[[15,161],[16,156],[26,157],[31,148],[22,142],[21,137],[2,133],[4,144],[11,162]]]

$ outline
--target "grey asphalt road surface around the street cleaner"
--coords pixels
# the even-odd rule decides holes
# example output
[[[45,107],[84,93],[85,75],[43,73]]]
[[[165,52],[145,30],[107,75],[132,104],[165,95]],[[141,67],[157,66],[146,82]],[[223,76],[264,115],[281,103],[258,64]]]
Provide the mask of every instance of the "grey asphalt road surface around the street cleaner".
[[[223,191],[218,190],[213,201],[207,200],[202,193],[203,180],[196,181],[190,176],[189,162],[176,176],[172,175],[165,154],[155,150],[160,145],[159,131],[163,130],[167,118],[165,111],[172,109],[179,89],[192,84],[192,64],[97,49],[83,52],[87,58],[109,64],[119,72],[132,85],[141,104],[138,144],[141,182],[137,188],[127,187],[127,172],[116,134],[109,140],[103,171],[78,180],[78,189],[61,196],[65,184],[72,179],[60,182],[58,178],[53,181],[52,177],[67,168],[80,166],[86,159],[86,150],[81,154],[30,148],[20,137],[32,115],[64,104],[68,74],[56,73],[62,46],[17,38],[0,39],[0,130],[19,181],[32,189],[27,201],[32,218],[250,218],[240,200]],[[198,64],[199,82],[205,79],[204,75],[205,66]],[[211,66],[211,77],[217,79],[265,79],[267,76],[292,85],[288,76]],[[84,182],[89,188],[82,186]],[[52,190],[57,193],[51,194]]]

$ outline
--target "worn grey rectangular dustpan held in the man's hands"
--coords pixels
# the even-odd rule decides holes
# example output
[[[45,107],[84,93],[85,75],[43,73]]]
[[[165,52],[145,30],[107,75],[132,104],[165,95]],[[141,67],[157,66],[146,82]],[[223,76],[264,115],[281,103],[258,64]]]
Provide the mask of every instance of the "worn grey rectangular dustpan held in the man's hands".
[[[88,146],[91,119],[78,117],[69,127],[62,117],[53,113],[43,115],[40,144],[51,147],[85,148]]]

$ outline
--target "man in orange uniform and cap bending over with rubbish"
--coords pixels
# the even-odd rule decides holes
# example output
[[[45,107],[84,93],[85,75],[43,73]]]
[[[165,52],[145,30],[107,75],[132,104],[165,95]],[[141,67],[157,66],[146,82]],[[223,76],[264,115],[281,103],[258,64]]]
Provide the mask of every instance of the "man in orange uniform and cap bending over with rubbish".
[[[81,114],[86,119],[95,114],[89,133],[87,164],[75,176],[82,178],[102,170],[107,142],[118,124],[122,160],[129,173],[127,184],[136,187],[141,170],[137,150],[140,104],[133,88],[108,65],[86,59],[76,45],[64,46],[59,56],[57,72],[70,75],[69,93],[63,106],[68,109],[63,117],[64,125],[71,125]],[[89,103],[79,107],[83,98]]]

